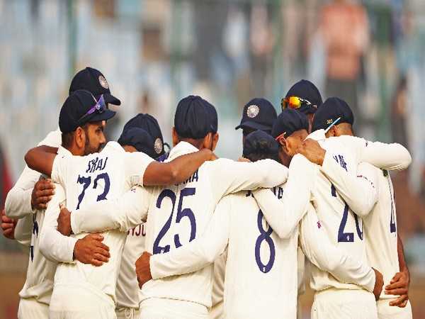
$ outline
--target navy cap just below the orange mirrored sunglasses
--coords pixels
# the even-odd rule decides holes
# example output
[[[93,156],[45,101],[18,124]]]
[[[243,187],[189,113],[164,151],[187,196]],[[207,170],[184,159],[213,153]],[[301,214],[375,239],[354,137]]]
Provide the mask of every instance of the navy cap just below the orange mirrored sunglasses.
[[[279,135],[285,133],[283,137],[288,138],[297,130],[308,131],[307,116],[293,108],[285,108],[276,119],[273,130],[271,130],[271,135],[273,138],[277,138]]]

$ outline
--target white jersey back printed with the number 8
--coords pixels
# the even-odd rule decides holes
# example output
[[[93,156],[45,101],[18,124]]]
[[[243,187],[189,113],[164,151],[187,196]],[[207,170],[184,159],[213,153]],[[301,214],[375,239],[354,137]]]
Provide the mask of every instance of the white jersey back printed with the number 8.
[[[281,198],[283,188],[276,187]],[[281,239],[251,192],[231,198],[225,272],[225,318],[296,318],[297,237]]]

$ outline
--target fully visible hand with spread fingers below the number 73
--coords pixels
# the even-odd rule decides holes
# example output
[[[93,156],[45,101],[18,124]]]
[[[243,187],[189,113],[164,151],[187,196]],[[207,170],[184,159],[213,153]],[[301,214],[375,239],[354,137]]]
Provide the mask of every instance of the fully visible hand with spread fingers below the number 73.
[[[74,246],[74,259],[96,267],[108,262],[111,254],[109,254],[109,247],[103,244],[102,240],[103,236],[98,233],[89,234],[77,240]]]

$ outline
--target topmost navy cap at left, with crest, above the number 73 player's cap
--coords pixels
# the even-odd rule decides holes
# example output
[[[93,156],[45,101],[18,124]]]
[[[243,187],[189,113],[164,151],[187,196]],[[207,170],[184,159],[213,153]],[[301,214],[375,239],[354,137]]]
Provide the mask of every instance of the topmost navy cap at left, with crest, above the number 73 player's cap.
[[[102,94],[106,103],[121,105],[121,101],[111,94],[105,76],[98,69],[86,67],[74,75],[69,86],[69,95],[77,90],[87,90],[98,99]]]

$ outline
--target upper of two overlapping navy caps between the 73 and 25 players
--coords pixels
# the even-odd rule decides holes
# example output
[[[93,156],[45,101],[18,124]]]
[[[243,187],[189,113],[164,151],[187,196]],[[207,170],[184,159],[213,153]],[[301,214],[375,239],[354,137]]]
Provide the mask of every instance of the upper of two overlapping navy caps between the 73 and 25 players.
[[[130,118],[130,120],[125,123],[123,132],[130,128],[142,128],[143,130],[146,130],[149,135],[151,135],[152,139],[154,140],[154,151],[156,153],[153,158],[164,154],[164,138],[162,138],[161,128],[159,128],[159,124],[156,118],[150,114],[139,113],[137,116]]]

